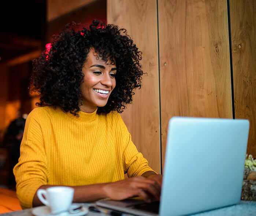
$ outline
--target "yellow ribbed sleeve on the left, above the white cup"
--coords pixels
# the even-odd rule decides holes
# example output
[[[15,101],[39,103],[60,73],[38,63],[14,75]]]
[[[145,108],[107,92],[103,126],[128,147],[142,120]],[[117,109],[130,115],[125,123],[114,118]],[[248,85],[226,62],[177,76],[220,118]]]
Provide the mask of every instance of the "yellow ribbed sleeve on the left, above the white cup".
[[[21,157],[14,167],[16,193],[22,208],[31,208],[38,187],[47,184],[47,166],[38,109],[27,117],[21,142]]]

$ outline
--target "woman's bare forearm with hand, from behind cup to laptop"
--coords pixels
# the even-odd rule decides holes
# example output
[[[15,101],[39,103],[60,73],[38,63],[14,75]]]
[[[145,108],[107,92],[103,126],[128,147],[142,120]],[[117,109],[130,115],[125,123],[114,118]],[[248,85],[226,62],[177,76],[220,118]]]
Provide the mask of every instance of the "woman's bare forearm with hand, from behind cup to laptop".
[[[139,196],[145,201],[159,200],[162,184],[162,175],[154,172],[146,172],[146,176],[136,176],[123,179],[117,182],[101,183],[84,186],[71,186],[74,188],[73,202],[93,202],[96,200],[110,198],[112,200],[123,200],[126,198]],[[38,189],[47,189],[57,185],[42,185]],[[42,205],[37,197],[37,192],[33,198],[33,207]]]

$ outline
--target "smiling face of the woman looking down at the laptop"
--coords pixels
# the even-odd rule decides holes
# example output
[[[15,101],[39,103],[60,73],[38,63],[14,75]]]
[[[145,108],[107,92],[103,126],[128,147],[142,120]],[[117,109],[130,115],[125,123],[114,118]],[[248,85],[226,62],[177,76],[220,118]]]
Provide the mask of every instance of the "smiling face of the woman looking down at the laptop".
[[[92,113],[98,106],[107,104],[111,92],[116,86],[116,65],[97,57],[94,49],[88,53],[87,60],[82,68],[84,82],[81,83],[82,105],[80,110]]]

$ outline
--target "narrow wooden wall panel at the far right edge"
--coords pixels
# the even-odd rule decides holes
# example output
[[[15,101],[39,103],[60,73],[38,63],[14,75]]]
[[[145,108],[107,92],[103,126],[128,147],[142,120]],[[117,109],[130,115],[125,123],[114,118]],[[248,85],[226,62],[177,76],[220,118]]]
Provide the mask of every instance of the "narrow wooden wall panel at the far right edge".
[[[247,153],[256,157],[256,1],[230,1],[235,118],[250,121]]]

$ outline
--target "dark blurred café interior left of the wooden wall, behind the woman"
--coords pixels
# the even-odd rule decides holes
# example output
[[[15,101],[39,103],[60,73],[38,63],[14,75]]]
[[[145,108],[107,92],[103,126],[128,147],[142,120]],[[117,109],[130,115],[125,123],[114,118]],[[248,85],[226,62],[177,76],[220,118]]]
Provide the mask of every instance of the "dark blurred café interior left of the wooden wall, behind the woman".
[[[52,35],[69,22],[88,26],[106,23],[106,0],[5,1],[0,7],[0,186],[15,189],[12,168],[27,114],[39,101],[29,92],[32,60],[40,56]]]

